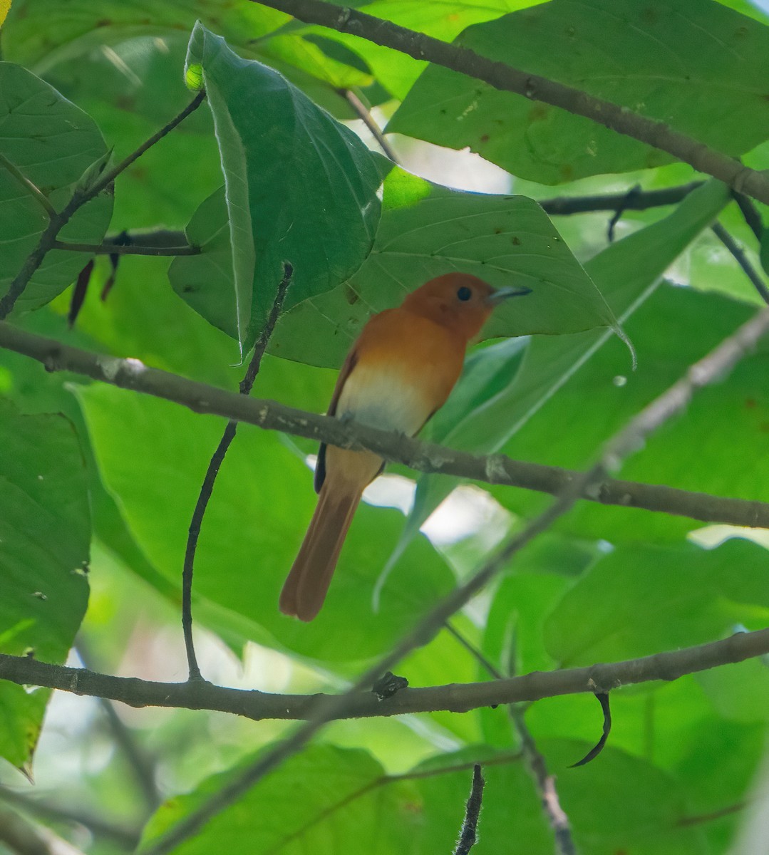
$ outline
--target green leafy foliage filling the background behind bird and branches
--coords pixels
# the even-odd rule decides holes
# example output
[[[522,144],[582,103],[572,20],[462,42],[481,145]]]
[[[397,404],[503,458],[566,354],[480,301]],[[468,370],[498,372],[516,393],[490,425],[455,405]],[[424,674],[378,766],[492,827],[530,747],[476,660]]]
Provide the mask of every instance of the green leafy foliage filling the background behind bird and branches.
[[[748,3],[378,0],[362,8],[769,168],[769,19]],[[70,329],[71,286],[89,255],[53,251],[10,318],[25,329],[234,390],[281,262],[291,261],[286,311],[254,391],[322,412],[333,369],[372,311],[451,269],[495,286],[525,284],[533,294],[494,316],[484,335],[493,340],[472,351],[427,433],[477,453],[582,469],[603,439],[760,304],[708,231],[719,217],[760,268],[759,242],[724,186],[707,182],[676,206],[624,212],[613,243],[606,213],[550,220],[536,200],[554,193],[702,176],[583,118],[362,38],[245,0],[109,0],[98,16],[85,0],[14,0],[0,44],[0,152],[58,209],[108,150],[115,161],[126,156],[189,103],[185,68],[208,91],[201,109],[120,175],[114,197],[88,203],[61,235],[98,244],[123,230],[186,229],[202,253],[170,263],[122,257],[105,299],[112,271],[97,257]],[[406,161],[426,143],[469,146],[510,174],[509,192],[464,192],[448,186],[460,182],[447,170],[444,186],[393,165],[370,150],[376,142],[346,91],[377,108]],[[0,168],[0,294],[45,225],[33,196]],[[618,322],[636,371],[614,334]],[[621,476],[769,501],[767,366],[760,345]],[[76,644],[109,673],[185,678],[181,563],[222,428],[217,418],[46,374],[0,350],[0,652],[62,663]],[[464,540],[435,545],[419,529],[458,481],[394,468],[416,482],[409,516],[364,504],[328,603],[299,625],[278,612],[277,596],[315,501],[313,452],[304,440],[245,425],[229,451],[195,571],[198,652],[212,681],[265,691],[343,686],[548,501],[476,486],[482,522]],[[579,504],[455,625],[495,667],[517,673],[766,626],[769,540],[700,528],[680,516]],[[727,537],[744,539],[715,545]],[[447,633],[398,671],[413,686],[488,679]],[[0,686],[0,800],[32,810],[14,767],[30,774],[34,757],[45,793],[39,821],[96,855],[139,838],[151,846],[288,728],[121,709],[115,731],[95,702],[49,701],[43,689]],[[731,852],[766,747],[766,663],[621,689],[612,713],[608,746],[579,769],[568,767],[600,734],[594,699],[547,699],[526,713],[577,850]],[[115,733],[145,756],[151,786],[140,785]],[[338,722],[180,851],[450,852],[471,762],[483,759],[473,852],[553,852],[519,747],[503,709]]]

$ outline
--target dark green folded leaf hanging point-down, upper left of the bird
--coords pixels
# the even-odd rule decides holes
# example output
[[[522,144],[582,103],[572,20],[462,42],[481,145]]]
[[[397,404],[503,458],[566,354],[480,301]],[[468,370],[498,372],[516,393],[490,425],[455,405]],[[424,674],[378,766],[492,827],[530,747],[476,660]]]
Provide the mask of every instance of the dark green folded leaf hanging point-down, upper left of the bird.
[[[379,221],[380,179],[352,131],[280,74],[240,59],[199,23],[187,56],[188,66],[196,63],[222,156],[235,322],[245,353],[269,315],[282,262],[294,270],[287,307],[328,291],[360,266]],[[196,260],[177,260],[172,282],[186,280]],[[227,291],[222,297],[232,304]]]

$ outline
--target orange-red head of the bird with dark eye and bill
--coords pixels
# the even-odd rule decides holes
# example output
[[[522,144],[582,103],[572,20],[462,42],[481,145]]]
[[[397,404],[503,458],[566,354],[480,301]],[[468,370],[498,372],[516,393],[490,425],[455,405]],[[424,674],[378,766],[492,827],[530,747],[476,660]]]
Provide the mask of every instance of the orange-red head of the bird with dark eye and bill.
[[[507,298],[530,293],[530,288],[493,288],[477,276],[447,273],[411,292],[403,301],[403,308],[429,317],[470,341],[481,332],[496,305]]]

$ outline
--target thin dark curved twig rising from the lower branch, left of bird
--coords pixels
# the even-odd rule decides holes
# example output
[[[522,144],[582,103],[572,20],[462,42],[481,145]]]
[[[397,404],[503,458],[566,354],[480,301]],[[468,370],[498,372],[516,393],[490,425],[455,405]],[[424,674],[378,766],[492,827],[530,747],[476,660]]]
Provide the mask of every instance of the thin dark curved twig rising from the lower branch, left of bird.
[[[281,284],[275,292],[275,300],[272,304],[272,309],[269,311],[269,317],[264,324],[262,333],[259,335],[256,345],[254,345],[253,357],[249,363],[248,369],[245,371],[245,377],[240,381],[240,394],[249,395],[251,387],[254,385],[254,380],[257,378],[259,368],[262,364],[264,351],[267,350],[269,338],[272,331],[275,329],[275,323],[281,315],[283,309],[283,301],[286,298],[286,292],[291,277],[293,275],[293,267],[288,262],[283,262],[283,278]],[[187,667],[189,669],[190,680],[201,680],[200,669],[198,668],[198,659],[195,656],[195,646],[192,640],[192,574],[195,564],[195,550],[198,548],[198,537],[200,536],[200,526],[203,523],[205,509],[208,507],[211,492],[214,489],[216,475],[219,474],[219,468],[222,466],[224,456],[227,454],[228,448],[235,438],[235,432],[238,429],[238,422],[230,419],[224,428],[222,439],[219,440],[219,445],[216,446],[213,456],[210,459],[208,469],[206,469],[203,486],[200,487],[198,501],[195,504],[195,510],[192,511],[192,520],[187,534],[186,549],[184,553],[184,569],[181,576],[181,626],[184,631],[184,644],[186,649]]]

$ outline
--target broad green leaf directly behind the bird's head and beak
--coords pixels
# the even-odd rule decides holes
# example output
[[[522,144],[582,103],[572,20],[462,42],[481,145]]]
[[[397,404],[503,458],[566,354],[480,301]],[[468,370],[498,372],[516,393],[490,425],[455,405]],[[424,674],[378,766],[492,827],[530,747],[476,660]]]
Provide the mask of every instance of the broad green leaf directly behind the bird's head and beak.
[[[532,199],[465,193],[393,168],[364,265],[334,291],[287,313],[275,328],[272,349],[300,362],[340,365],[372,312],[399,305],[407,292],[451,270],[533,291],[503,304],[484,338],[571,333],[616,322]]]

